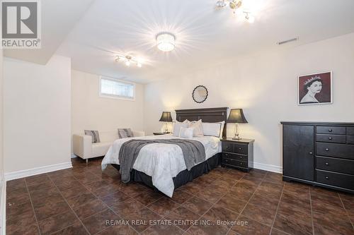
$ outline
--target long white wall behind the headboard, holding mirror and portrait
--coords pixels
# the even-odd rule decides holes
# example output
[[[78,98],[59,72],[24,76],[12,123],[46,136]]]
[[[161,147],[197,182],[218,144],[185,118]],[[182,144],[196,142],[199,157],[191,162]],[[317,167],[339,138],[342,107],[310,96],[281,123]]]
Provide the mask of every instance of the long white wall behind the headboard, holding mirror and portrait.
[[[297,76],[319,71],[333,71],[333,104],[297,106]],[[280,121],[354,121],[353,74],[354,34],[245,56],[186,75],[171,74],[169,80],[146,85],[144,129],[148,134],[159,130],[163,110],[243,108],[249,123],[241,125],[241,135],[256,140],[257,167],[279,171]],[[205,85],[209,90],[202,104],[191,97],[196,85]],[[228,135],[232,131],[233,126]]]

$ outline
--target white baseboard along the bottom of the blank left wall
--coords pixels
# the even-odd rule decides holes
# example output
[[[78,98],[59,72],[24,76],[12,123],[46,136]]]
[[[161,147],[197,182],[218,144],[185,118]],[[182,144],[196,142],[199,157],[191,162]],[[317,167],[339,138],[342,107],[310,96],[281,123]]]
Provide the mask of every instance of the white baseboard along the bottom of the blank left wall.
[[[5,180],[11,181],[12,179],[20,179],[23,177],[34,176],[36,174],[43,174],[51,171],[58,171],[61,169],[68,169],[68,168],[72,168],[72,162],[63,162],[63,163],[44,166],[44,167],[25,169],[22,171],[13,171],[13,172],[5,173]]]

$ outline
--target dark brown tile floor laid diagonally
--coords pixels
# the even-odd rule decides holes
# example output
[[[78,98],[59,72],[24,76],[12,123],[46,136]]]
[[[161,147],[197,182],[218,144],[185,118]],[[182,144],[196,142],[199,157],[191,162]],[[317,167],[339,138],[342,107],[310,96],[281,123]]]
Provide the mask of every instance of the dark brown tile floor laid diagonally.
[[[354,234],[354,195],[280,174],[220,167],[166,198],[101,159],[72,162],[7,182],[6,234]]]

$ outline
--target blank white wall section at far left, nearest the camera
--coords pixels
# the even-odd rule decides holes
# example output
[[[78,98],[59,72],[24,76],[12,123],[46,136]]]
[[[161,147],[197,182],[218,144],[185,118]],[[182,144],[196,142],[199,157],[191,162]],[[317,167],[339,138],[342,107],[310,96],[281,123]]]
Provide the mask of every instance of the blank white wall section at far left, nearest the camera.
[[[5,174],[70,162],[70,63],[4,59]]]

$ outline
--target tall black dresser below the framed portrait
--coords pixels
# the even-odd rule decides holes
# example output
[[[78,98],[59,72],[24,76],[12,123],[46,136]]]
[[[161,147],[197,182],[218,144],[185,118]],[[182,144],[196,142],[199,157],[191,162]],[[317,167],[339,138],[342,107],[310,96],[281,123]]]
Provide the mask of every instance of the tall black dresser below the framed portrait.
[[[354,123],[281,123],[283,181],[354,193]]]

